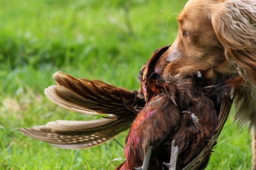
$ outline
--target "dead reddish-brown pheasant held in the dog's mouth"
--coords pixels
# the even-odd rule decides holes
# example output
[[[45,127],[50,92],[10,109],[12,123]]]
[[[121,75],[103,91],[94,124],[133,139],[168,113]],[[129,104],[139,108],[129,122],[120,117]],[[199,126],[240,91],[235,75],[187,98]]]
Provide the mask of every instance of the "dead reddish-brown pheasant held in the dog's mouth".
[[[243,82],[237,77],[222,77],[215,84],[205,82],[200,71],[163,80],[155,65],[168,48],[156,50],[144,65],[139,91],[56,72],[53,78],[57,85],[45,89],[52,102],[82,114],[104,116],[94,121],[59,120],[20,130],[53,146],[79,149],[104,143],[131,127],[125,145],[127,161],[117,169],[204,167],[230,110],[232,89]],[[170,157],[170,163],[163,163]]]

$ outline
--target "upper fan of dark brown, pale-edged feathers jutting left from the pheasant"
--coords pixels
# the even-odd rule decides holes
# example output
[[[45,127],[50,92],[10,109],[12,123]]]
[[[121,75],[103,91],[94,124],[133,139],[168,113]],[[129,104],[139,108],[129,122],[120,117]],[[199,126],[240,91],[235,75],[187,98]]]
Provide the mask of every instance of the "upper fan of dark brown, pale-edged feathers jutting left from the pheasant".
[[[57,85],[45,89],[55,104],[83,114],[136,115],[144,99],[136,91],[115,87],[100,80],[76,79],[61,71],[54,73]]]

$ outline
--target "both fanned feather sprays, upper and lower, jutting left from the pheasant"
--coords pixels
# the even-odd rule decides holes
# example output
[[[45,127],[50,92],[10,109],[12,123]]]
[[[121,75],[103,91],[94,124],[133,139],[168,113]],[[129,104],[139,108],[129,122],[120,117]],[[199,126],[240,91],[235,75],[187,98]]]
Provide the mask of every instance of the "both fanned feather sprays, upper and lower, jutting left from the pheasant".
[[[21,128],[25,135],[51,145],[78,149],[92,147],[129,128],[145,105],[136,91],[115,87],[100,80],[76,79],[61,71],[53,75],[57,85],[45,89],[55,104],[83,114],[111,114],[93,121],[49,122],[43,126]]]

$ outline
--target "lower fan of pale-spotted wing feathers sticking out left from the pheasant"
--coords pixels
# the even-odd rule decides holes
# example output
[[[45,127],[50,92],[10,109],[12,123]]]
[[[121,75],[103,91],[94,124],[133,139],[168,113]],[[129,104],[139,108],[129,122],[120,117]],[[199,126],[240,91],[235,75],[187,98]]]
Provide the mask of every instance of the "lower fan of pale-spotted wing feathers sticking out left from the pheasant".
[[[20,128],[26,136],[66,149],[80,149],[102,144],[131,126],[130,120],[111,116],[93,121],[49,122],[43,126]]]

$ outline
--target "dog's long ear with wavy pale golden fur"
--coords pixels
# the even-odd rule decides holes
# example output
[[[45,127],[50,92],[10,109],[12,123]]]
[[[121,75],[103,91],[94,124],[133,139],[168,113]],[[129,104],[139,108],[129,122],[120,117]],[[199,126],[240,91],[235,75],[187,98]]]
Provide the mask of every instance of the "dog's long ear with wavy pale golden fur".
[[[256,1],[222,0],[211,16],[213,29],[240,74],[256,84]]]

